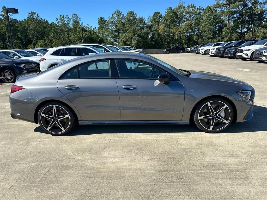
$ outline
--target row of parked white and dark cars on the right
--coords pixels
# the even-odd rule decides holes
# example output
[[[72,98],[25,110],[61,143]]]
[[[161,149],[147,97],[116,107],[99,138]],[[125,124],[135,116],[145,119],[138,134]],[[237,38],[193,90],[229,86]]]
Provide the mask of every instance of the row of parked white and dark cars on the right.
[[[235,59],[250,59],[251,61],[267,61],[267,39],[247,39],[228,42],[213,42],[200,44],[186,50],[210,56],[219,56]]]

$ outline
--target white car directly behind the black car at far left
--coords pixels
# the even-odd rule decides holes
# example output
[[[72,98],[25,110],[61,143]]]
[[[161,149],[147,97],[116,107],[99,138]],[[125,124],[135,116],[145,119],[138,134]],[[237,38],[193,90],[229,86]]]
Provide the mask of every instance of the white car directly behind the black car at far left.
[[[1,49],[0,53],[3,53],[7,56],[9,56],[10,58],[23,58],[23,59],[27,59],[27,60],[32,60],[36,63],[38,63],[38,65],[40,64],[40,56],[34,56],[33,54],[29,53],[28,51],[22,50],[22,49]]]

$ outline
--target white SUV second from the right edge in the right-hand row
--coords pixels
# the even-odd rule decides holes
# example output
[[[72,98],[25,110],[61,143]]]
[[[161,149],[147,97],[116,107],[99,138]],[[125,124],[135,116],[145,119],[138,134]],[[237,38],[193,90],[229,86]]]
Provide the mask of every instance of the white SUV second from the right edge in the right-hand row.
[[[245,46],[237,49],[237,54],[236,56],[239,57],[242,60],[250,59],[253,61],[254,58],[254,51],[256,49],[259,49],[261,47],[267,46],[267,39],[263,39],[255,43],[254,45],[251,46]]]

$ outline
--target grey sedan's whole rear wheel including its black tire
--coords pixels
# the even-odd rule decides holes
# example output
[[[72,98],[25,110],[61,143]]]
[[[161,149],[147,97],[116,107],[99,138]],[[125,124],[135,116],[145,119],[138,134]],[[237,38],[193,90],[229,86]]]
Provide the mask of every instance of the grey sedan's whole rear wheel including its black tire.
[[[67,106],[50,102],[40,108],[38,122],[46,133],[58,136],[68,133],[74,127],[76,120]]]

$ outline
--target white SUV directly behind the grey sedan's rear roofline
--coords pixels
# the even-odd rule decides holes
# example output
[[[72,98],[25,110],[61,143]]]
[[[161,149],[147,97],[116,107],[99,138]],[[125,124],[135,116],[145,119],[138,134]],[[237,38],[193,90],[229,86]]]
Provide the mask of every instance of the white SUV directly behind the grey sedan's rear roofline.
[[[40,70],[44,71],[73,58],[98,53],[103,52],[91,46],[71,45],[50,48],[40,60]]]

